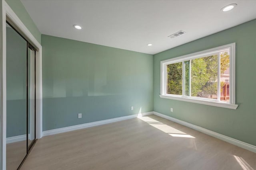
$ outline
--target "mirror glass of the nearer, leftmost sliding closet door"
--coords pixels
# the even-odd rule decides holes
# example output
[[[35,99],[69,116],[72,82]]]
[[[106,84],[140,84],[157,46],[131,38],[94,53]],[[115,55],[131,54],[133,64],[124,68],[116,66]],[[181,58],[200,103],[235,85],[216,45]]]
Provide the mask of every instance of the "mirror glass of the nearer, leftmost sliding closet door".
[[[27,154],[27,42],[6,25],[6,169],[16,170]]]

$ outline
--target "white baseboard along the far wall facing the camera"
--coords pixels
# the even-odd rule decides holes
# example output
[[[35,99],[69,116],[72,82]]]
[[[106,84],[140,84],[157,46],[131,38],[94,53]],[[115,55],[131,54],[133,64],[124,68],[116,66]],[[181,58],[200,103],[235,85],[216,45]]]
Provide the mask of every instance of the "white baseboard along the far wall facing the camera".
[[[141,115],[150,115],[153,114],[154,112],[147,112],[147,113],[141,113]],[[48,135],[54,135],[54,134],[58,134],[58,133],[64,133],[64,132],[68,132],[68,131],[74,131],[74,130],[78,130],[78,129],[84,129],[87,127],[93,127],[93,126],[98,126],[98,125],[104,125],[107,123],[113,123],[116,121],[122,121],[122,120],[127,120],[127,119],[132,119],[135,117],[138,117],[139,115],[128,115],[128,116],[123,116],[123,117],[117,117],[117,118],[113,118],[113,119],[107,119],[107,120],[102,120],[102,121],[94,121],[91,123],[84,123],[81,125],[74,125],[74,126],[69,126],[69,127],[63,127],[63,128],[59,128],[59,129],[52,129],[52,130],[48,130],[48,131],[43,131],[43,136],[48,136]]]

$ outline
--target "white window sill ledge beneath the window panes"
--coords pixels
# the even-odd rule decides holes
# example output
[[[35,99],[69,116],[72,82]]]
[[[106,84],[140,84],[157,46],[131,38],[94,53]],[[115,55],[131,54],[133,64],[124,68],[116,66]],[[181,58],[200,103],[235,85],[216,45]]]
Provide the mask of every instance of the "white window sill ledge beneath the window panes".
[[[216,106],[216,107],[224,107],[224,108],[228,108],[228,109],[236,109],[238,107],[237,104],[206,101],[206,100],[200,100],[200,99],[191,99],[191,98],[185,98],[182,96],[167,96],[167,95],[159,95],[159,96],[160,96],[160,98],[180,100],[180,101],[184,101],[184,102],[192,102],[192,103],[198,103],[198,104],[205,104],[205,105]]]

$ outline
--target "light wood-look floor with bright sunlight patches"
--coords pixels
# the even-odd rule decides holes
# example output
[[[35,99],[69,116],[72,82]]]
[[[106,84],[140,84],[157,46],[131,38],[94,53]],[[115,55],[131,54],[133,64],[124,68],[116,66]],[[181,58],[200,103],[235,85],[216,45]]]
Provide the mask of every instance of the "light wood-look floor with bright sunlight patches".
[[[21,170],[256,170],[256,153],[149,115],[43,137]]]

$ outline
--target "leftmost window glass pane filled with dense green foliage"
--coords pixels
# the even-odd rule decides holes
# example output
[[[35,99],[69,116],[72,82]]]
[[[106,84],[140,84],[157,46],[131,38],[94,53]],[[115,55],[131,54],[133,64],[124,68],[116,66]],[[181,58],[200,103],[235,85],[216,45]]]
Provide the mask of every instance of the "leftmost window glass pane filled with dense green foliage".
[[[182,95],[182,62],[167,65],[166,94]]]

